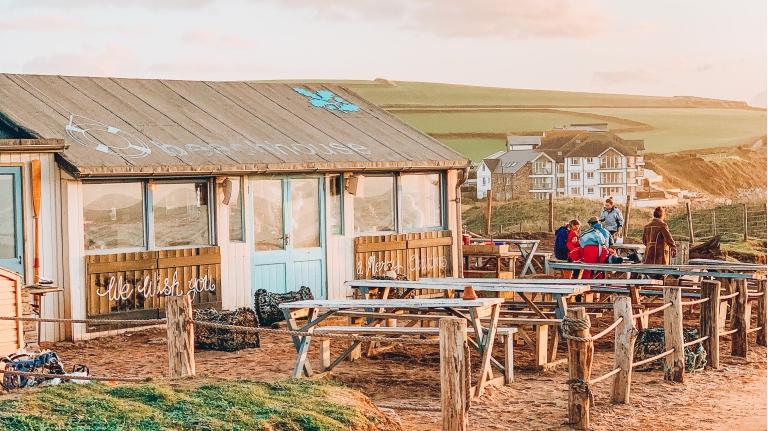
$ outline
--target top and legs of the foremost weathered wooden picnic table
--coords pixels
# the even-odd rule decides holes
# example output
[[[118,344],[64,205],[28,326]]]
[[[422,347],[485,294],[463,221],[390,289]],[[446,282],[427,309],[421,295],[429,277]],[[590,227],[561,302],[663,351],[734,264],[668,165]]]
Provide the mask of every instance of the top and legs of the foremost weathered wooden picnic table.
[[[489,379],[493,377],[491,370],[493,342],[498,328],[501,298],[478,298],[473,300],[436,298],[436,299],[357,299],[357,300],[305,300],[280,304],[280,309],[285,315],[288,329],[301,332],[314,332],[318,324],[342,310],[412,310],[422,313],[447,312],[450,315],[461,317],[469,321],[471,327],[472,344],[481,356],[480,374],[477,379],[476,391],[480,395]],[[466,310],[466,311],[465,311]],[[307,321],[299,325],[297,317],[306,311]],[[393,315],[396,316],[396,315]],[[486,318],[481,320],[481,318]],[[485,326],[484,326],[484,323]],[[373,324],[373,322],[371,322]],[[293,336],[296,348],[296,365],[293,377],[311,376],[307,354],[311,336]],[[361,341],[353,341],[339,356],[337,356],[326,370],[334,368],[341,363]],[[493,361],[497,367],[502,367],[498,361]]]

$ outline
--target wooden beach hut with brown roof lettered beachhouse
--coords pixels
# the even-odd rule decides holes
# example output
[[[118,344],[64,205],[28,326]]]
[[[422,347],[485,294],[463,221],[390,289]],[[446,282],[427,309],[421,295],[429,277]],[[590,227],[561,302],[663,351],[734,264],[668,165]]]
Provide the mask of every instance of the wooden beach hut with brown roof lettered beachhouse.
[[[332,84],[0,74],[0,267],[63,287],[44,316],[109,319],[453,276],[468,164]]]

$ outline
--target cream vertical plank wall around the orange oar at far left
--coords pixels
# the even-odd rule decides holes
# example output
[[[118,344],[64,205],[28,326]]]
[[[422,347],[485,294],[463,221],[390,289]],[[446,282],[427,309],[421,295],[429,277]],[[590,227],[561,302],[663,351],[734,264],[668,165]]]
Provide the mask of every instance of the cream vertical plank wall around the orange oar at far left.
[[[40,208],[40,276],[53,280],[67,289],[64,283],[62,248],[62,208],[59,178],[61,171],[52,153],[0,153],[0,164],[22,167],[22,196],[24,200],[24,284],[32,283],[34,262],[34,218],[32,217],[30,162],[40,160],[42,177]],[[51,293],[43,297],[43,317],[66,315],[66,292]],[[43,323],[41,341],[57,341],[66,337],[65,325]]]

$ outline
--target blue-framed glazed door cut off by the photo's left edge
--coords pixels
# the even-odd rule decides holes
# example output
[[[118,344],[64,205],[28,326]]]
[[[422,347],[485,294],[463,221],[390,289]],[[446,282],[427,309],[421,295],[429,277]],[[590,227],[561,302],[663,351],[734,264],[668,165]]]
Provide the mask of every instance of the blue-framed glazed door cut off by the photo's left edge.
[[[21,167],[0,166],[0,267],[24,274]]]

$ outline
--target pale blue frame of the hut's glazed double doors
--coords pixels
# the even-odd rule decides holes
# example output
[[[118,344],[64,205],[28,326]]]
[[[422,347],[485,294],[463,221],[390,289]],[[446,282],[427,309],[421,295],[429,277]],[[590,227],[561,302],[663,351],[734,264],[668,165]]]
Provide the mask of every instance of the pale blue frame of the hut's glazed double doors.
[[[291,242],[293,238],[289,237],[289,242],[287,245],[284,245],[282,249],[279,250],[266,250],[266,251],[256,251],[255,250],[255,238],[254,238],[254,228],[253,223],[255,219],[254,214],[254,194],[257,192],[257,188],[253,186],[253,183],[258,180],[278,180],[281,184],[281,196],[282,196],[282,211],[283,211],[283,235],[289,234],[292,227],[293,220],[291,219],[291,210],[293,202],[291,201],[291,192],[290,192],[290,180],[291,179],[311,179],[317,181],[317,193],[318,193],[318,214],[319,214],[319,222],[320,225],[318,226],[319,229],[319,237],[320,237],[320,246],[319,248],[319,260],[320,260],[320,282],[321,286],[319,287],[320,296],[327,297],[328,295],[328,280],[327,280],[327,252],[328,252],[328,244],[327,244],[327,238],[326,238],[326,217],[325,217],[325,176],[324,175],[301,175],[301,174],[295,174],[295,175],[248,175],[246,176],[246,179],[248,181],[248,190],[246,193],[246,196],[244,196],[243,204],[248,207],[246,211],[246,238],[247,242],[249,244],[249,264],[251,265],[251,295],[255,292],[256,288],[256,271],[253,270],[253,267],[257,265],[257,262],[259,264],[269,265],[270,263],[277,264],[277,263],[285,263],[286,267],[286,276],[284,277],[284,282],[286,284],[285,289],[291,289],[292,286],[288,285],[288,274],[287,272],[291,269],[288,267],[291,262],[294,261],[294,258],[297,256],[297,250],[302,249],[294,249],[291,245]],[[314,249],[315,247],[312,247],[311,249]],[[257,261],[256,257],[261,254],[263,259],[260,259]],[[259,287],[260,288],[260,287]]]

